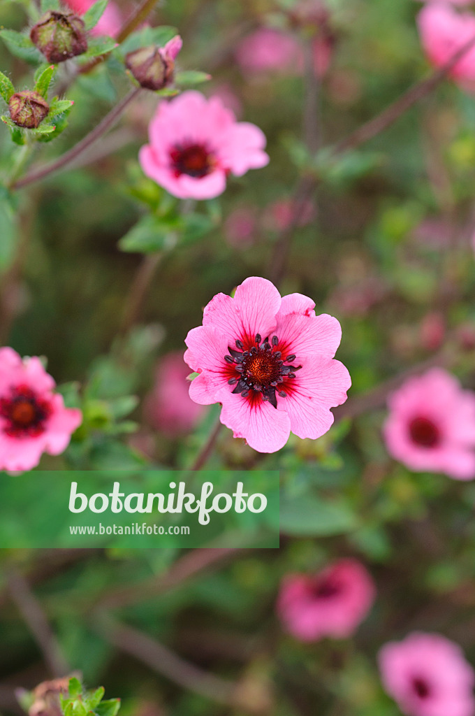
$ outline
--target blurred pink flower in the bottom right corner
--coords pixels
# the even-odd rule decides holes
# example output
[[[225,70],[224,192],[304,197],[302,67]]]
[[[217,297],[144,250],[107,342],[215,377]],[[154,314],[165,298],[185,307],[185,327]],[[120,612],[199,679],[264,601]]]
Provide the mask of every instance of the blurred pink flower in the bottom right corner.
[[[383,686],[407,716],[474,716],[474,669],[458,644],[413,632],[379,653]]]

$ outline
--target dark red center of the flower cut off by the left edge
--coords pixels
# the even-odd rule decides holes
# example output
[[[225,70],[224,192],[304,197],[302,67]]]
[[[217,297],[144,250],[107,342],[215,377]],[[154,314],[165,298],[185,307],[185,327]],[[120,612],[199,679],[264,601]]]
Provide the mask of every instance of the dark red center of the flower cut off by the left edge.
[[[37,437],[45,430],[44,423],[52,414],[48,400],[36,395],[27,385],[11,389],[9,397],[0,398],[2,430],[10,437]]]

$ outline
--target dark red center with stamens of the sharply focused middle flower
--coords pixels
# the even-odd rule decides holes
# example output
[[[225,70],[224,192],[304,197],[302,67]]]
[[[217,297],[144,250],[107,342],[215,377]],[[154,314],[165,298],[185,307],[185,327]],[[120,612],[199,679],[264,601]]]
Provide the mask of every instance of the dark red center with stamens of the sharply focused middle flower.
[[[277,407],[275,390],[284,381],[295,378],[295,372],[302,366],[290,365],[295,360],[295,355],[282,357],[278,350],[277,336],[273,336],[271,342],[268,338],[262,342],[262,338],[257,334],[254,343],[249,350],[244,350],[244,344],[240,340],[236,341],[237,350],[228,347],[230,355],[225,356],[225,361],[230,364],[231,377],[227,382],[235,385],[233,393],[240,393],[243,397],[258,397],[260,394],[263,400],[268,400],[270,405]],[[287,397],[283,390],[278,390],[278,395]]]

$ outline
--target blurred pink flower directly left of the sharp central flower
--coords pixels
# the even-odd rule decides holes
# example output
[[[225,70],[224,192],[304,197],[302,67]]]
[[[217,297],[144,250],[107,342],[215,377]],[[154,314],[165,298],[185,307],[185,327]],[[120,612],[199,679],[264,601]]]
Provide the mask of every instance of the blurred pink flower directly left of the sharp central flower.
[[[145,401],[145,412],[150,423],[165,435],[189,432],[204,412],[201,405],[190,399],[189,374],[182,353],[168,354],[157,367],[155,386]]]

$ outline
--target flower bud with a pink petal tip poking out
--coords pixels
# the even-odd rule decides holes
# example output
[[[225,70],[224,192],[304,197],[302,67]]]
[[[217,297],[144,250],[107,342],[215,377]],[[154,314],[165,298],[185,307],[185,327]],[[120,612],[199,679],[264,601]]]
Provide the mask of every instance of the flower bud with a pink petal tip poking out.
[[[173,81],[175,57],[181,47],[182,39],[177,35],[165,47],[150,45],[129,52],[125,65],[145,89],[163,89]]]

